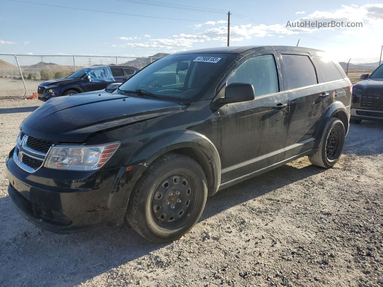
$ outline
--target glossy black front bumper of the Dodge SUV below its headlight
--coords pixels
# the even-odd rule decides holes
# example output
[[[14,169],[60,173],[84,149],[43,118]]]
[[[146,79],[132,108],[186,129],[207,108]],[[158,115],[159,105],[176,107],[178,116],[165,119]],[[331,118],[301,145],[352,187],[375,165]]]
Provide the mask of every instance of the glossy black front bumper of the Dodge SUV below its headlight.
[[[13,153],[13,150],[10,154]],[[28,173],[6,160],[8,194],[29,221],[56,233],[123,223],[134,174],[126,166],[98,171],[40,168]]]

